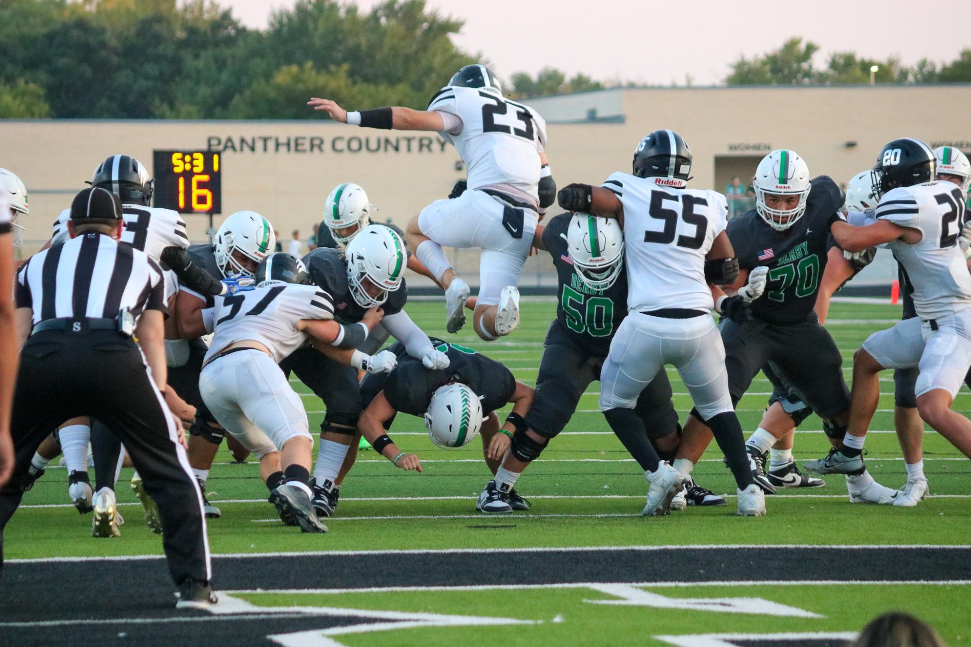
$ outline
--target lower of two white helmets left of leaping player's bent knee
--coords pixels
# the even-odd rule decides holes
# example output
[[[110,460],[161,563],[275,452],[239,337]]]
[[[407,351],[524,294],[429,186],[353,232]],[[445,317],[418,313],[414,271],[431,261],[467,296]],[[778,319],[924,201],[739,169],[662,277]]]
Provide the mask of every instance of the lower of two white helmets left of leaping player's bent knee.
[[[357,232],[344,251],[348,264],[348,286],[360,307],[378,307],[387,293],[401,285],[408,264],[405,243],[385,225],[368,225]],[[364,281],[379,288],[376,296],[365,289]]]

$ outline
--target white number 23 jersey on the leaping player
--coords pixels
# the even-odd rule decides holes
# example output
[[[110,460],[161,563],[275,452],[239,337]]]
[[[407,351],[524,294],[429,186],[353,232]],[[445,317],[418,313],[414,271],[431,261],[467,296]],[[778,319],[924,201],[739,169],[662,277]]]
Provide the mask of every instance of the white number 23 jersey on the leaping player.
[[[470,189],[494,189],[539,205],[540,153],[547,144],[539,113],[495,91],[453,85],[439,90],[428,110],[460,120],[439,134],[461,156]]]

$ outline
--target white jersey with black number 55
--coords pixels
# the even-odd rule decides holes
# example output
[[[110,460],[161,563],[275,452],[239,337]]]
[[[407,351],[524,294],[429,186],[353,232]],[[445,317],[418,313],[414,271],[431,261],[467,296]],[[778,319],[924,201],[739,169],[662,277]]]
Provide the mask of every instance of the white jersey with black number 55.
[[[666,178],[615,173],[602,186],[623,205],[627,307],[710,310],[705,255],[728,223],[717,191],[664,186]]]

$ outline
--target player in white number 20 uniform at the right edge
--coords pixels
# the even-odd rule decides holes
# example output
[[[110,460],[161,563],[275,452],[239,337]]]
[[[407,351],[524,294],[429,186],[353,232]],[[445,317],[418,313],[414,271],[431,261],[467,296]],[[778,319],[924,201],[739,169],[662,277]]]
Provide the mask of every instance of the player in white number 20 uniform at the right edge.
[[[935,166],[934,153],[923,142],[893,140],[873,169],[880,197],[877,221],[833,226],[833,236],[847,251],[887,243],[903,269],[902,287],[913,296],[918,316],[874,333],[856,351],[846,437],[824,459],[807,463],[807,469],[848,473],[863,466],[863,440],[880,399],[878,373],[889,368],[920,368],[916,395],[921,419],[971,457],[971,421],[951,409],[971,368],[971,275],[958,244],[964,193],[950,181],[935,179]],[[909,475],[903,496],[920,500],[926,491],[926,479]]]

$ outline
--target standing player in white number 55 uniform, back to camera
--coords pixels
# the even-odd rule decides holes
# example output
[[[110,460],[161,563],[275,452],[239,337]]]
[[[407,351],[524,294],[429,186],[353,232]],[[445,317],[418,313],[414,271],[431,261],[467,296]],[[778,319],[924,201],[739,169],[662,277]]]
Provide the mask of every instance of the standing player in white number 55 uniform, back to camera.
[[[633,174],[615,173],[599,187],[570,184],[558,195],[563,209],[617,218],[624,230],[630,310],[611,342],[600,376],[600,410],[613,429],[639,430],[634,406],[641,391],[674,365],[699,415],[711,427],[738,484],[738,514],[765,514],[765,495],[753,480],[745,438],[728,392],[725,352],[712,319],[747,308],[742,295],[714,301],[712,284],[738,275],[725,234],[727,206],[716,191],[686,189],[691,152],[671,130],[657,130],[634,152]],[[758,295],[753,295],[757,297]],[[661,463],[650,444],[643,457],[651,484],[644,514],[666,514],[686,476]]]

